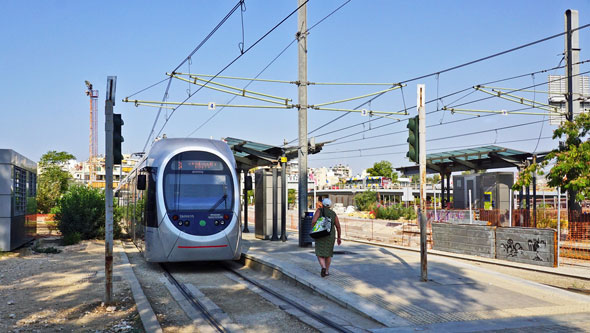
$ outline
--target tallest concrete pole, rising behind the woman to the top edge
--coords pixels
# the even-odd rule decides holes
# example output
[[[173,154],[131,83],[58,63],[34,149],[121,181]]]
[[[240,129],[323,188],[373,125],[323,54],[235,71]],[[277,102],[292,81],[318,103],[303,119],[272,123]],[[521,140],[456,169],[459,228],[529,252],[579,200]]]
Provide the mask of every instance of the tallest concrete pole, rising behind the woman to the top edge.
[[[303,228],[305,213],[307,212],[307,5],[305,0],[297,0],[297,48],[299,55],[299,246],[306,246]]]

